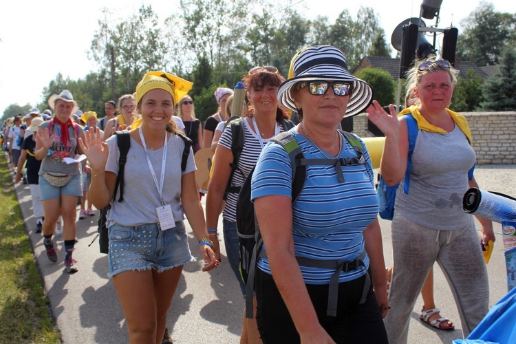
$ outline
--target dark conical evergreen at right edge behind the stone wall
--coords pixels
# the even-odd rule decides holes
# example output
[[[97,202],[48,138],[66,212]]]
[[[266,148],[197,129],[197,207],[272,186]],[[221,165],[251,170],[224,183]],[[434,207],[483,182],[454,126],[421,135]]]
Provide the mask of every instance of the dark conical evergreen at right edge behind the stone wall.
[[[482,102],[482,109],[491,111],[516,110],[516,50],[506,48],[502,53],[498,73],[490,78],[485,87],[486,101]]]

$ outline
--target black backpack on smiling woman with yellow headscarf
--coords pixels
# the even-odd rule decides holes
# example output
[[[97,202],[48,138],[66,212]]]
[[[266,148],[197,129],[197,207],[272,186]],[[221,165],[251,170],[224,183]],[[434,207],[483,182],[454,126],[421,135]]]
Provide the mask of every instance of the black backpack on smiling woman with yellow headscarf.
[[[118,150],[120,151],[120,158],[118,158],[118,175],[116,176],[115,183],[115,191],[113,195],[113,202],[116,200],[116,191],[120,187],[120,197],[118,197],[118,202],[122,202],[124,200],[124,170],[125,170],[125,162],[127,162],[127,153],[129,152],[129,148],[131,147],[131,138],[129,137],[129,131],[122,130],[116,131],[116,142],[118,145]],[[190,154],[190,147],[192,146],[192,141],[184,136],[182,133],[176,133],[180,138],[184,141],[184,149],[183,155],[181,159],[181,171],[186,169],[186,163],[188,162],[188,156]],[[91,246],[94,241],[98,237],[98,244],[100,246],[100,253],[107,254],[109,252],[109,235],[106,226],[107,222],[107,212],[111,209],[111,204],[107,204],[104,208],[100,209],[100,214],[97,219],[97,235],[94,237],[92,242],[88,245]]]

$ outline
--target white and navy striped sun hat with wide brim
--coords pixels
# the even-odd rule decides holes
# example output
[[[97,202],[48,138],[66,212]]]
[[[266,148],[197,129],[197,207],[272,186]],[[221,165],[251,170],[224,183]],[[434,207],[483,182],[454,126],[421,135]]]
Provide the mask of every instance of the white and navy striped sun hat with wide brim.
[[[373,89],[364,80],[347,70],[346,58],[341,50],[331,45],[316,45],[298,52],[292,58],[289,79],[279,85],[278,99],[281,105],[297,111],[290,89],[299,81],[350,81],[352,94],[344,117],[361,114],[373,100]]]

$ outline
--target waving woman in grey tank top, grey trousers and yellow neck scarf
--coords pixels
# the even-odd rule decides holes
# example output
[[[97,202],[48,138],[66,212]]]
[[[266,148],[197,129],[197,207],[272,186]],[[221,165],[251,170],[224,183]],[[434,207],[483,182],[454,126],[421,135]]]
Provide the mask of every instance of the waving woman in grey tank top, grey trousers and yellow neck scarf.
[[[392,308],[385,327],[390,343],[407,343],[411,312],[437,261],[449,282],[466,337],[488,312],[489,286],[473,217],[462,211],[464,193],[478,185],[466,118],[448,109],[458,70],[448,61],[429,58],[416,63],[407,75],[407,94],[413,92],[416,105],[401,111],[399,118],[387,114],[376,101],[367,109],[367,118],[385,133],[380,163],[385,182],[394,185],[410,178],[408,193],[400,182],[396,195]],[[395,113],[393,106],[390,110]],[[418,125],[411,162],[410,118],[404,115],[412,116]],[[408,164],[411,171],[405,175]],[[482,242],[494,241],[491,221],[478,220]],[[429,315],[424,314],[422,320],[427,321]]]

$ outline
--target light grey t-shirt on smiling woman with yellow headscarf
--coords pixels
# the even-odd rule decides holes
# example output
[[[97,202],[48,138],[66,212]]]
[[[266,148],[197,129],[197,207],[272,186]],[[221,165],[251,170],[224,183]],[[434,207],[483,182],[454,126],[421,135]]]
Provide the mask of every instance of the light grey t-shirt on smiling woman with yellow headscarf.
[[[116,144],[116,136],[106,140],[109,146],[109,157],[107,158],[106,171],[118,175],[118,158],[120,151]],[[183,219],[181,206],[181,176],[195,171],[195,160],[193,152],[190,151],[188,163],[184,172],[181,171],[181,160],[184,149],[184,141],[176,135],[171,135],[166,146],[166,165],[163,186],[163,200],[170,204],[176,222]],[[161,166],[163,158],[163,147],[151,151],[147,150],[154,173],[160,183]],[[131,138],[131,148],[127,153],[127,162],[124,170],[124,200],[118,202],[120,189],[117,192],[115,202],[111,202],[111,210],[107,213],[107,226],[115,222],[122,226],[139,226],[142,224],[158,223],[156,208],[161,206],[160,194],[155,186],[154,180],[147,163],[145,150],[136,140]]]

